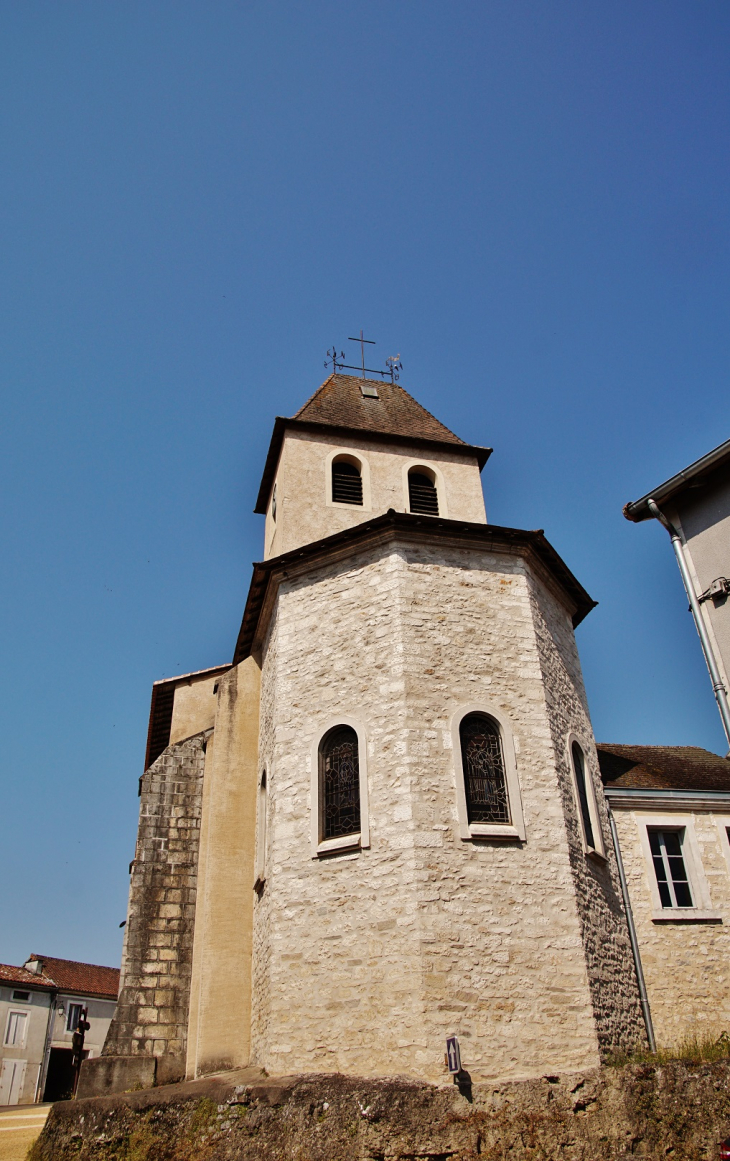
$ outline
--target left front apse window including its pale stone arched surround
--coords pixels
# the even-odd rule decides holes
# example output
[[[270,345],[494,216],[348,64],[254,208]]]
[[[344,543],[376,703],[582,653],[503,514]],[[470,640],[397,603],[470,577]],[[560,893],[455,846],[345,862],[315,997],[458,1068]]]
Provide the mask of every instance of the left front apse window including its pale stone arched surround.
[[[339,717],[312,748],[312,854],[369,846],[366,741],[362,726]]]

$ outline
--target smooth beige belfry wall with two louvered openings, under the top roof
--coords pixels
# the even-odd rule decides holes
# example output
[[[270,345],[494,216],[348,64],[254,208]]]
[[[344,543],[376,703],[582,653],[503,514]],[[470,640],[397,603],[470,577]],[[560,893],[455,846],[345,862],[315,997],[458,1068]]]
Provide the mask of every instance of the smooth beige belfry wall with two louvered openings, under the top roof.
[[[354,453],[364,462],[363,507],[327,503],[328,460],[334,452]],[[266,556],[353,528],[389,509],[409,511],[407,469],[413,463],[436,473],[439,510],[451,520],[486,524],[482,477],[474,455],[456,448],[421,448],[357,438],[341,432],[288,431],[276,469],[276,520],[269,497]]]

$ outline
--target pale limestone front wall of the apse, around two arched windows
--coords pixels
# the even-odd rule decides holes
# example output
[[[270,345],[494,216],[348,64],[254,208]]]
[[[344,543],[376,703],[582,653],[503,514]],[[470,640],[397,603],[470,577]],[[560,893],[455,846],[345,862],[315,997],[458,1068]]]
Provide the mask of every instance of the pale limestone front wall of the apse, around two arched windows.
[[[594,1010],[555,742],[583,690],[564,666],[545,698],[543,587],[508,551],[407,543],[282,583],[254,907],[252,1059],[269,1072],[441,1079],[457,1032],[475,1079],[536,1075],[594,1066],[599,1024],[603,1046],[630,1024]],[[460,838],[450,727],[480,702],[514,733],[525,843]],[[342,714],[367,734],[371,845],[313,859],[312,744]]]

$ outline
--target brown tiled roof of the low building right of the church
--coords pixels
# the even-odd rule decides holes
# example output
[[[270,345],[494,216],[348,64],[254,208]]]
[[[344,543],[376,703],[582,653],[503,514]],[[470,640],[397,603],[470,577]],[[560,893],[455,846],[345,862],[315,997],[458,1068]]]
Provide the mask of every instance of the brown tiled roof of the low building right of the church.
[[[603,785],[626,789],[730,791],[730,760],[699,745],[598,745]]]

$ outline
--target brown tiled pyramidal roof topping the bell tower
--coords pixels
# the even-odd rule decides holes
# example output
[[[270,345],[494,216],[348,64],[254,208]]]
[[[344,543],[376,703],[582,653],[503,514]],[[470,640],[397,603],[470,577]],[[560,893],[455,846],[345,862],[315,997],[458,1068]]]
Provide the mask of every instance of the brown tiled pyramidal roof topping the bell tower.
[[[377,389],[377,398],[364,396],[361,384]],[[398,383],[363,380],[355,375],[331,375],[306,401],[294,419],[332,427],[354,427],[384,435],[439,440],[467,447],[464,440],[444,427]]]

